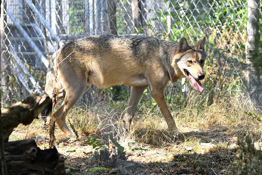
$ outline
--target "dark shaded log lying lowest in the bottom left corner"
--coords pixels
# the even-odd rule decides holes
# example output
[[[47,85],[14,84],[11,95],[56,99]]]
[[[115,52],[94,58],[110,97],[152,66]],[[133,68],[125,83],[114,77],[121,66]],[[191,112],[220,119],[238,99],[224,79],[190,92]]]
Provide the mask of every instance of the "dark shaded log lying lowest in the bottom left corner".
[[[41,150],[34,139],[7,142],[4,149],[8,174],[65,174],[64,158],[57,150]]]

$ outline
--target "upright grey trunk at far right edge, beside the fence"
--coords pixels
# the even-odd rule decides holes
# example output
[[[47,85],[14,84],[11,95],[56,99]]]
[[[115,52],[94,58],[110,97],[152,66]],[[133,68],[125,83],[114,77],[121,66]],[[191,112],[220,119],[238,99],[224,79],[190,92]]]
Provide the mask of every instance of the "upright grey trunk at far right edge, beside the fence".
[[[259,36],[259,9],[260,0],[247,1],[247,40],[246,40],[246,64],[247,64],[247,83],[249,99],[257,110],[262,110],[262,88],[260,80],[261,57],[259,49],[261,41]]]

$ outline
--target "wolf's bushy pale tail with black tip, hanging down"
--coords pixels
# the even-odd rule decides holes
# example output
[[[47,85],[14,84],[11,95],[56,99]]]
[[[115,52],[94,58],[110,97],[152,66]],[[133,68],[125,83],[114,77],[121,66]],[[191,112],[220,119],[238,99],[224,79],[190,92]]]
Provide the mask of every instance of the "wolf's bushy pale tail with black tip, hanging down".
[[[58,52],[58,51],[57,51]],[[55,81],[55,74],[54,70],[56,67],[56,52],[52,55],[49,65],[47,68],[47,74],[46,74],[46,84],[45,84],[45,93],[49,95],[49,97],[52,99],[53,89],[54,89],[54,81]],[[41,118],[45,121],[45,126],[49,125],[48,118],[51,118],[52,113],[52,107],[53,103],[50,101],[48,105],[43,109],[41,112]]]

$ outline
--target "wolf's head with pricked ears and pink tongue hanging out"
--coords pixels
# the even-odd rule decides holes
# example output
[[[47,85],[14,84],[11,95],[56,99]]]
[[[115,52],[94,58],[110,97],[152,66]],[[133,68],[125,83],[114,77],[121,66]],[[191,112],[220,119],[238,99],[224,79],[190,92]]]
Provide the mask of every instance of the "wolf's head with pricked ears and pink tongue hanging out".
[[[175,62],[180,71],[186,76],[190,84],[195,90],[203,91],[203,85],[199,80],[203,80],[205,74],[203,67],[206,59],[205,52],[206,37],[198,43],[189,46],[187,40],[182,38],[178,44],[177,55]]]

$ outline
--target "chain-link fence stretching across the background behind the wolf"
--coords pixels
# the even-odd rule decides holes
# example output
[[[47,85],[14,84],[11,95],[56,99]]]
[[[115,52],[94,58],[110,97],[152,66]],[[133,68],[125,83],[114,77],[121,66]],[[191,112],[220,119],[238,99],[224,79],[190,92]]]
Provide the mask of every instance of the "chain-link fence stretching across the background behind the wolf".
[[[210,104],[226,94],[262,106],[261,67],[252,66],[261,61],[260,7],[260,0],[3,0],[1,101],[43,93],[48,55],[73,38],[145,34],[189,43],[206,36]],[[258,59],[248,50],[259,50]],[[168,93],[188,91],[183,80],[175,87]]]

